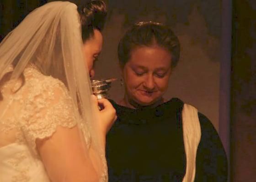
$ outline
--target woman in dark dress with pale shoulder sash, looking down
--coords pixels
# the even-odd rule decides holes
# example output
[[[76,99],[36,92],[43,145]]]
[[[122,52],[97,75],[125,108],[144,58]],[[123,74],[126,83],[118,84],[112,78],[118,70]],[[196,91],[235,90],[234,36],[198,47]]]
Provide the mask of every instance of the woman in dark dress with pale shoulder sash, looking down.
[[[125,95],[112,101],[109,182],[226,182],[227,159],[206,116],[178,98],[165,101],[180,44],[172,30],[140,22],[118,46]]]

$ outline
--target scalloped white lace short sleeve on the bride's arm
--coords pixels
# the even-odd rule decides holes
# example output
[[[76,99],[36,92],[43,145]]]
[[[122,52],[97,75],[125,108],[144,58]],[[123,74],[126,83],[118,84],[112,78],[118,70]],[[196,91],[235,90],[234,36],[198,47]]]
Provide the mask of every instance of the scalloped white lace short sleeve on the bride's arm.
[[[57,126],[74,127],[75,109],[64,84],[52,77],[28,83],[23,103],[21,128],[28,145],[36,155],[36,139],[52,136]]]

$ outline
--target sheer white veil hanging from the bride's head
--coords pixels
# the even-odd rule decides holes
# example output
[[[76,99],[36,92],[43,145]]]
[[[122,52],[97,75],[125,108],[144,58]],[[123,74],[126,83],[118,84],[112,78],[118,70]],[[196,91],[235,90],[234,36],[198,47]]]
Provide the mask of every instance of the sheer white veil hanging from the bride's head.
[[[47,3],[27,15],[0,43],[0,80],[11,65],[11,79],[17,79],[32,62],[44,75],[62,81],[73,99],[81,136],[86,125],[106,165],[104,148],[94,132],[96,111],[91,107],[91,82],[82,46],[77,6],[67,1]]]

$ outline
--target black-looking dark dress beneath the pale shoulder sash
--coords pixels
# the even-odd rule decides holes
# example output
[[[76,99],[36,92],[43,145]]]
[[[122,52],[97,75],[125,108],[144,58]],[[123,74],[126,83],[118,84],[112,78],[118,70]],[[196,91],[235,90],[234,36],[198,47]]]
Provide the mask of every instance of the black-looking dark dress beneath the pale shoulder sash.
[[[155,108],[117,105],[117,121],[107,134],[109,182],[181,182],[186,172],[181,112],[173,98]],[[195,182],[226,182],[227,159],[217,131],[198,113],[201,141]]]

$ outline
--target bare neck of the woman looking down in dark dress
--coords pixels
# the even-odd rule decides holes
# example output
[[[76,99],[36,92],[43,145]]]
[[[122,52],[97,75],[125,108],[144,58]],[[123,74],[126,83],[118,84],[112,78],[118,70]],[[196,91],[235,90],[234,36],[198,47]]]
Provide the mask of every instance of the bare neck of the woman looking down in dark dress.
[[[139,109],[139,108],[154,108],[160,104],[164,103],[164,98],[160,97],[157,101],[155,101],[153,104],[149,104],[149,105],[141,105],[139,103],[137,103],[136,101],[134,101],[133,99],[130,99],[127,95],[124,95],[123,99],[119,102],[117,102],[117,104],[121,105],[121,106],[125,106],[128,108],[132,108],[132,109]]]

